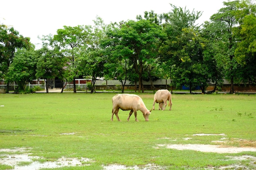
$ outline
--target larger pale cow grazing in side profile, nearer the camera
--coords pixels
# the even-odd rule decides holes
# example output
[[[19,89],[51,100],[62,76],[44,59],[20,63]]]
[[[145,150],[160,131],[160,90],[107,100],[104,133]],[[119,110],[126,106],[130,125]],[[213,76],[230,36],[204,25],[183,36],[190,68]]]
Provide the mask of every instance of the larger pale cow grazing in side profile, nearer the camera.
[[[151,110],[149,111],[142,99],[138,95],[132,95],[132,94],[117,94],[114,97],[112,97],[112,117],[111,121],[113,121],[114,114],[117,117],[118,121],[121,121],[118,117],[118,111],[119,108],[121,110],[131,110],[129,113],[129,116],[127,118],[127,121],[129,121],[130,116],[134,112],[135,115],[135,121],[138,121],[137,119],[137,110],[140,110],[143,113],[143,116],[145,118],[145,121],[148,121],[148,116],[150,115]]]

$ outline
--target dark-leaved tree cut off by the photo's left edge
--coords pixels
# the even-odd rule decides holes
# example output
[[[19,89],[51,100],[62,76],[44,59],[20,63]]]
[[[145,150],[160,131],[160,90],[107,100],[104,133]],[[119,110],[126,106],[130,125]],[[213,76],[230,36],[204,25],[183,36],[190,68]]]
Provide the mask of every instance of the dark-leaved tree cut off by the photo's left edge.
[[[29,38],[24,38],[13,27],[8,28],[0,25],[0,79],[5,78],[9,66],[14,58],[14,53],[19,48],[29,48]],[[7,93],[9,93],[9,82],[7,81]]]

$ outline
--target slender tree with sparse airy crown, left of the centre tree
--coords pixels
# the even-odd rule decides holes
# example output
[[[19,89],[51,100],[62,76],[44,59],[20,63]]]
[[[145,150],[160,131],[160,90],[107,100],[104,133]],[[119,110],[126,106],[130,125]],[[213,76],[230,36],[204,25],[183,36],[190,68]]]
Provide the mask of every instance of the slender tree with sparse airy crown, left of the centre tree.
[[[90,40],[90,26],[63,26],[64,29],[58,29],[57,35],[54,35],[53,43],[60,47],[60,51],[64,57],[69,60],[68,69],[69,76],[73,79],[74,93],[76,93],[75,79],[78,76],[77,62],[81,55],[82,49],[86,49]],[[68,77],[67,77],[68,78]]]

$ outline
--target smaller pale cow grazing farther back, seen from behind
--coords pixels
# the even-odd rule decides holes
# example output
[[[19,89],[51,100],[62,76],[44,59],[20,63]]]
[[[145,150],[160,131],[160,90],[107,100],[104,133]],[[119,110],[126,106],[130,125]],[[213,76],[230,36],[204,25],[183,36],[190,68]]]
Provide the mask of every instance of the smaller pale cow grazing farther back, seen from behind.
[[[153,110],[155,110],[155,102],[159,103],[159,110],[164,110],[167,106],[167,100],[169,101],[169,110],[171,110],[173,105],[171,100],[171,93],[168,90],[158,90],[157,92],[155,92]]]

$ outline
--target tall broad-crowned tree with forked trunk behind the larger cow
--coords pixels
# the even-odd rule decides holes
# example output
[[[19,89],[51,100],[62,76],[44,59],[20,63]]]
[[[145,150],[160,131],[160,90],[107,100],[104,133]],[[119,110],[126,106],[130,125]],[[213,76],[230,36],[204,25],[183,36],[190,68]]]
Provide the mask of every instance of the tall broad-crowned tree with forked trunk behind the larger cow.
[[[124,57],[124,60],[119,61],[126,62],[126,59],[129,59],[129,63],[132,64],[130,67],[139,78],[138,91],[140,93],[142,90],[144,93],[144,68],[157,57],[157,44],[166,36],[162,27],[150,20],[128,20],[120,25],[120,29],[110,31],[107,35],[113,42],[118,43],[115,44],[113,50],[115,50],[115,54],[119,53],[116,57]]]

